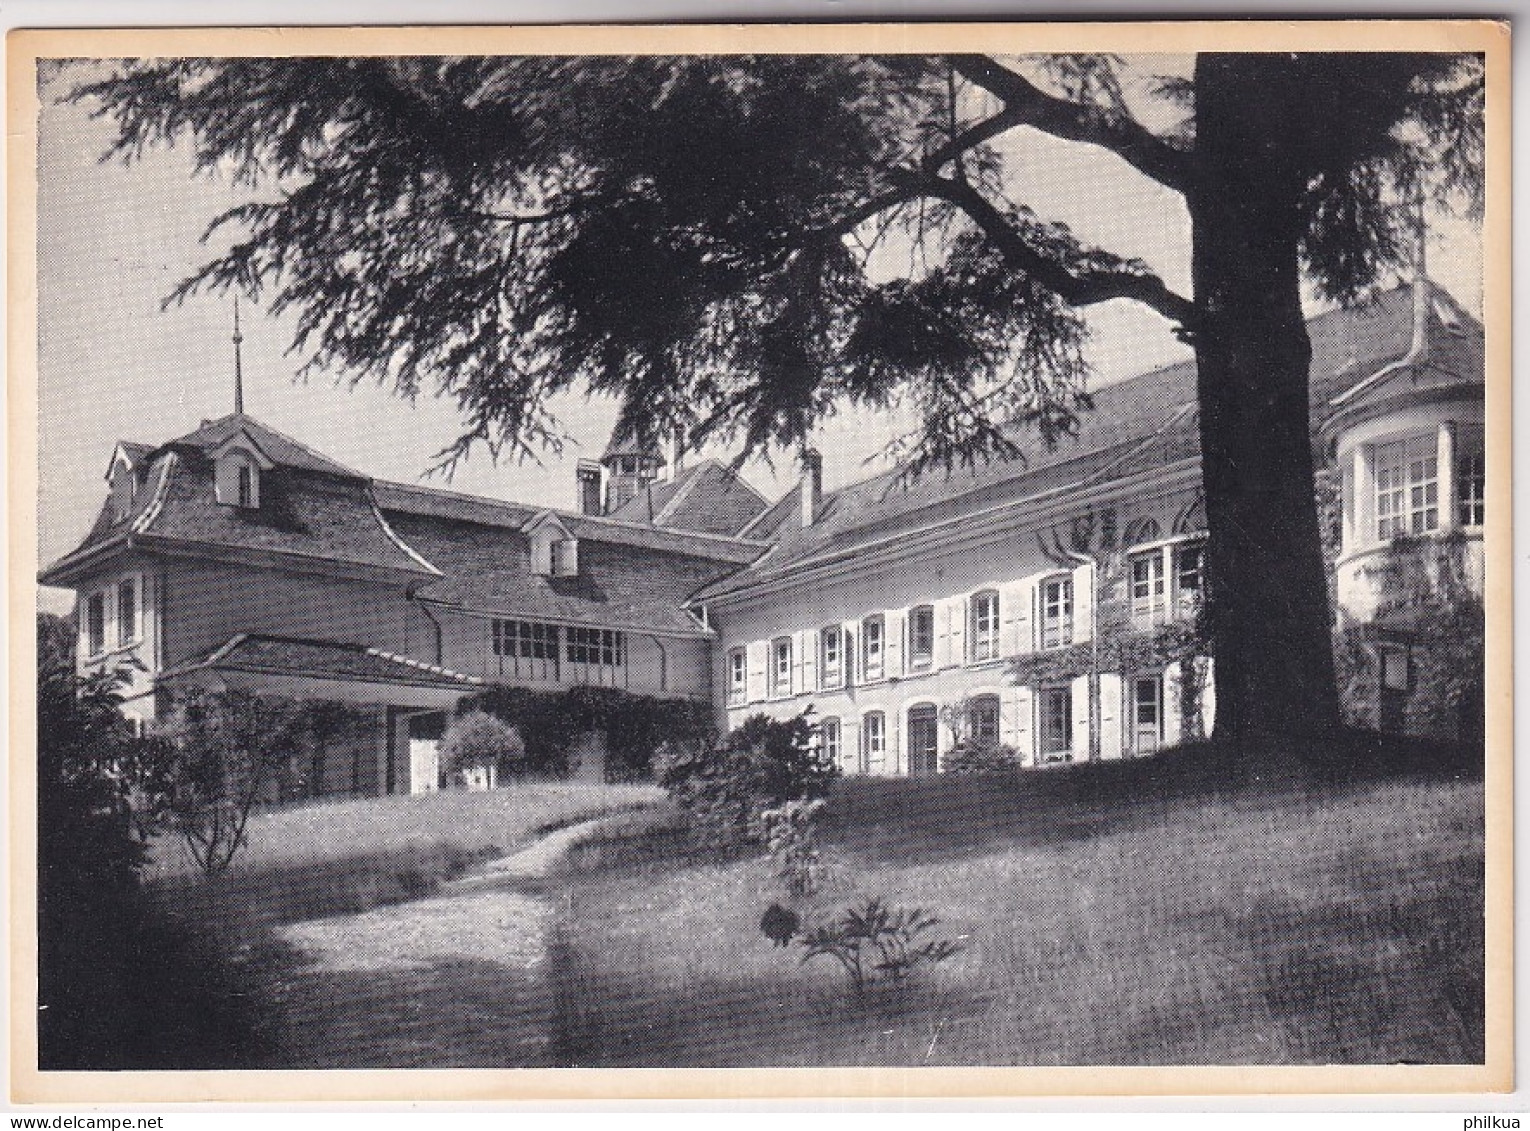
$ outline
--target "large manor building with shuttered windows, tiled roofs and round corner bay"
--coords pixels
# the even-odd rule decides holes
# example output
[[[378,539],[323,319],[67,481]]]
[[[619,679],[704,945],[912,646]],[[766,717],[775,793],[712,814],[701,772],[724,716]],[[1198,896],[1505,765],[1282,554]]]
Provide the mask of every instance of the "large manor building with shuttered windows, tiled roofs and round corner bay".
[[[1308,329],[1336,617],[1365,629],[1368,718],[1401,725],[1429,641],[1388,595],[1397,552],[1449,545],[1483,592],[1483,331],[1426,280]],[[1215,719],[1193,364],[1094,401],[1053,448],[912,481],[825,491],[809,455],[774,505],[614,441],[568,511],[376,481],[234,413],[118,444],[41,582],[76,591],[81,670],[124,669],[133,718],[191,684],[361,709],[321,793],[433,788],[447,716],[497,684],[684,696],[724,727],[811,709],[852,773],[1144,756]]]

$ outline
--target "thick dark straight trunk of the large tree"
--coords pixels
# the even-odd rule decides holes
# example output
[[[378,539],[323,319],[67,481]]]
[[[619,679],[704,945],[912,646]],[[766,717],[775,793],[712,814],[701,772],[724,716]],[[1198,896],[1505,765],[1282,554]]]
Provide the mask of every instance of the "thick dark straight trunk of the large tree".
[[[1201,55],[1195,72],[1195,354],[1216,733],[1290,747],[1339,725],[1317,528],[1302,317],[1304,173],[1281,55]]]

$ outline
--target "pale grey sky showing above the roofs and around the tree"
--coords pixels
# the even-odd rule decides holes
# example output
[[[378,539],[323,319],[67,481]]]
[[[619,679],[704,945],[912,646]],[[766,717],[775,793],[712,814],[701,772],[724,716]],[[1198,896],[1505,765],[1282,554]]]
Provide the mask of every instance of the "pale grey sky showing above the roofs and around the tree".
[[[72,78],[44,83],[38,121],[38,559],[72,549],[106,494],[104,474],[118,439],[158,444],[233,410],[233,305],[202,295],[162,309],[174,285],[210,254],[208,222],[245,199],[226,181],[194,176],[188,153],[156,148],[124,165],[103,164],[112,139],[89,107],[61,103]],[[1028,132],[1027,132],[1028,133]],[[1076,234],[1148,262],[1174,289],[1190,292],[1189,217],[1172,191],[1114,156],[1034,133],[1016,136],[1013,197],[1066,222]],[[1431,274],[1470,311],[1481,311],[1476,231],[1435,219]],[[1091,308],[1092,380],[1108,383],[1189,357],[1158,315],[1128,301]],[[294,380],[301,358],[288,352],[294,320],[242,305],[245,409],[252,416],[366,474],[433,482],[491,497],[572,508],[574,467],[598,458],[610,435],[614,401],[565,396],[552,407],[569,444],[542,464],[500,462],[483,450],[450,484],[425,479],[436,455],[462,432],[456,406],[422,395],[407,403],[346,375]],[[822,422],[825,487],[854,482],[887,464],[878,459],[906,421],[848,413]],[[731,458],[731,451],[701,456]],[[796,479],[789,456],[744,476],[768,499]],[[67,594],[43,595],[66,611]]]

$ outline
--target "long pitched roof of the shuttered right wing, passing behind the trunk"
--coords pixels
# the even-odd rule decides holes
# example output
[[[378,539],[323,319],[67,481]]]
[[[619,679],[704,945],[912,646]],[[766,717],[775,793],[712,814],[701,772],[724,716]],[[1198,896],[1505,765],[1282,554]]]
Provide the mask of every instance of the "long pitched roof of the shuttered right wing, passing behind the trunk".
[[[1443,294],[1443,292],[1437,292]],[[1458,329],[1441,321],[1447,315]],[[1391,360],[1405,357],[1412,338],[1412,288],[1401,286],[1371,301],[1320,314],[1307,323],[1313,346],[1311,412],[1323,419],[1330,403]],[[1461,329],[1466,332],[1463,334]],[[1429,324],[1434,364],[1481,375],[1481,326],[1444,297]],[[1475,369],[1473,369],[1475,366]],[[958,520],[1001,504],[1022,504],[1048,493],[1083,490],[1132,471],[1200,458],[1195,363],[1181,361],[1094,393],[1094,410],[1082,415],[1076,436],[1048,448],[1034,432],[1017,433],[1021,461],[993,461],[901,482],[901,470],[826,491],[820,517],[803,528],[796,493],[779,499],[744,536],[774,543],[751,566],[701,591],[715,598],[780,577],[802,566],[869,548],[926,522]]]

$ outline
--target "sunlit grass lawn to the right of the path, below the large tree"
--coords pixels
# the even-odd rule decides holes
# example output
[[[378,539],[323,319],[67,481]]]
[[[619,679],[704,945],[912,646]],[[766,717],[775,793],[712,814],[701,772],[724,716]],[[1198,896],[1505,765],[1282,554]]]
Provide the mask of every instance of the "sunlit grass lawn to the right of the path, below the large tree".
[[[569,885],[555,1059],[1483,1059],[1480,776],[1230,782],[1187,753],[845,781],[823,840],[834,874],[805,918],[880,895],[938,915],[961,953],[857,996],[760,934],[786,901],[768,860],[638,842]]]

